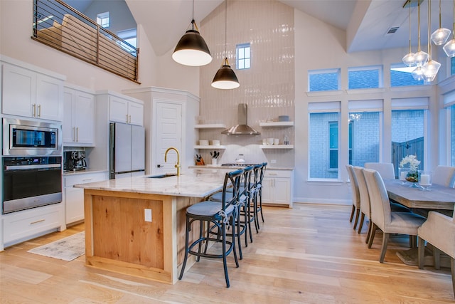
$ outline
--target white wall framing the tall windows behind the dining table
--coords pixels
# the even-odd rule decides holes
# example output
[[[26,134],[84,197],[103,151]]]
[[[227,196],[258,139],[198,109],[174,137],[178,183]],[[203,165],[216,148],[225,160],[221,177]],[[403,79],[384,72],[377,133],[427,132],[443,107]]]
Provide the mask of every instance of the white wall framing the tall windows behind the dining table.
[[[295,81],[296,81],[296,147],[294,173],[294,201],[331,202],[350,204],[350,187],[348,187],[348,174],[345,169],[340,169],[339,180],[331,182],[316,182],[308,180],[309,172],[309,139],[308,139],[308,103],[314,101],[340,101],[341,120],[348,120],[348,100],[383,100],[384,120],[383,137],[381,142],[380,160],[391,160],[390,138],[390,103],[392,98],[410,98],[425,96],[429,98],[429,128],[425,135],[430,147],[426,164],[433,168],[438,164],[439,141],[438,120],[439,110],[434,85],[425,88],[388,88],[390,86],[390,70],[392,63],[400,63],[407,49],[388,49],[382,51],[368,51],[360,53],[346,53],[346,33],[314,19],[301,11],[294,11],[295,25]],[[375,90],[357,90],[348,92],[348,68],[365,65],[383,65],[385,88]],[[308,70],[324,68],[341,68],[341,91],[337,93],[308,94]],[[301,113],[301,115],[297,115]],[[297,118],[298,117],[298,118]],[[339,168],[344,168],[348,162],[348,125],[341,125]]]

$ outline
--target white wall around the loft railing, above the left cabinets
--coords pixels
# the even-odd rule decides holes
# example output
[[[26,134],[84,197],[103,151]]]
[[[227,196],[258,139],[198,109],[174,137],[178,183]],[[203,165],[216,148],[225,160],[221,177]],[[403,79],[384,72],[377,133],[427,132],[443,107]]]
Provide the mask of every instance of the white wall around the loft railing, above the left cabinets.
[[[66,75],[67,83],[92,90],[121,92],[124,89],[141,86],[164,86],[188,90],[195,95],[199,93],[198,69],[188,69],[178,63],[170,63],[169,53],[157,57],[140,24],[137,26],[140,48],[139,82],[141,84],[139,85],[34,41],[31,39],[32,15],[33,0],[0,1],[0,53],[2,55]]]

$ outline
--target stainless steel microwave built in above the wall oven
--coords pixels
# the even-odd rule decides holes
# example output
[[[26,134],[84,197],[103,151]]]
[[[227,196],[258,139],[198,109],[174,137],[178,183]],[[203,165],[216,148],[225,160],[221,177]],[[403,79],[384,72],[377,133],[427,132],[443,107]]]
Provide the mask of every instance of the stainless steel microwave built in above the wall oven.
[[[58,123],[3,119],[4,155],[61,155],[62,126]]]

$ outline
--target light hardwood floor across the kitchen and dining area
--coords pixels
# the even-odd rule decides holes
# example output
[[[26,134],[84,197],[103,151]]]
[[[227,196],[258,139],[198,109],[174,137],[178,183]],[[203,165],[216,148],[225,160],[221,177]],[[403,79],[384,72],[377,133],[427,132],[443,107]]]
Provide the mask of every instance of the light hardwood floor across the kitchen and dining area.
[[[368,249],[366,226],[353,230],[350,208],[265,207],[240,268],[229,260],[230,288],[221,261],[203,259],[168,285],[88,268],[85,256],[66,262],[27,252],[82,231],[79,224],[0,253],[0,303],[455,303],[448,268],[419,270],[397,258],[407,238],[392,236],[379,263],[382,235]]]

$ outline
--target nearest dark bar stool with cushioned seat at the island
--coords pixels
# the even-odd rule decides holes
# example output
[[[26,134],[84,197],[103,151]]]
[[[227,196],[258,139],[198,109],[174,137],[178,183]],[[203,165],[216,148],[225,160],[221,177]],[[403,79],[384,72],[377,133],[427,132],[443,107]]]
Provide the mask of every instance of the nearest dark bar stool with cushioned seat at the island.
[[[239,262],[237,260],[237,251],[235,250],[235,233],[228,235],[226,231],[228,226],[232,226],[232,231],[236,226],[237,199],[239,198],[240,178],[242,177],[242,174],[242,169],[225,174],[223,201],[221,204],[218,201],[201,201],[186,209],[185,257],[183,258],[178,280],[181,280],[183,273],[185,272],[188,254],[196,256],[196,262],[200,261],[201,256],[204,258],[222,258],[226,287],[229,288],[228,261],[226,258],[232,252],[234,254],[236,267],[239,267]],[[226,191],[229,184],[232,184],[232,193]],[[195,221],[199,223],[199,239],[189,243],[189,232]],[[203,231],[204,228],[206,229],[205,233]],[[218,231],[215,231],[215,235],[211,233],[214,232],[214,228],[218,229]],[[229,241],[227,239],[228,236],[230,236]],[[218,246],[211,246],[210,249],[213,249],[213,251],[208,251],[209,242],[220,243],[221,248],[218,248]],[[203,244],[205,248],[202,248]]]

